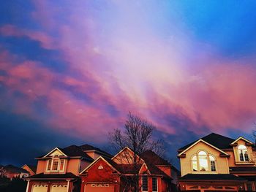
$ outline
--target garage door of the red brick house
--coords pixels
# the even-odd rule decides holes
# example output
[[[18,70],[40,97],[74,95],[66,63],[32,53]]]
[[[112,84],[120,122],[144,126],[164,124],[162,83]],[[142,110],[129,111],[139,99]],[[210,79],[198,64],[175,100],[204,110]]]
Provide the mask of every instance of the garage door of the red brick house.
[[[111,183],[87,183],[85,192],[114,192],[115,186]]]

